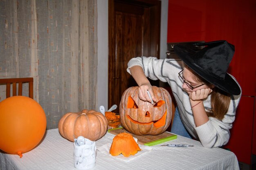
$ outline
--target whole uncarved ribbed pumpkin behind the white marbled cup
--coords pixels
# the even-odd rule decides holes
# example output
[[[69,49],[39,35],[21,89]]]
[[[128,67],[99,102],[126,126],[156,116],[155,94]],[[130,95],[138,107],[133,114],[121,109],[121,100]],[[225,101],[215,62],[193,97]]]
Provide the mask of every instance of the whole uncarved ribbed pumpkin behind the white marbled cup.
[[[58,123],[58,130],[61,136],[70,141],[79,136],[96,141],[107,132],[108,121],[102,113],[84,109],[63,115]]]

